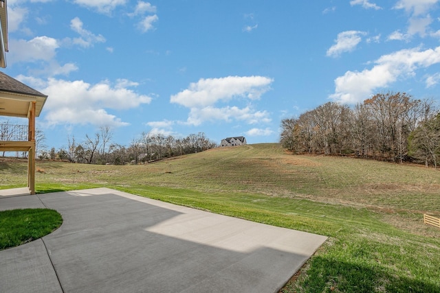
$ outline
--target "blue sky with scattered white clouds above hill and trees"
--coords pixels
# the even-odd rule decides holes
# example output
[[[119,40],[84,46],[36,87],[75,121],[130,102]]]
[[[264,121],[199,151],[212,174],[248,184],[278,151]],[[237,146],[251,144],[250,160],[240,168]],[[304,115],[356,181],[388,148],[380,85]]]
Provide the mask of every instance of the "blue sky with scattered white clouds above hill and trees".
[[[375,93],[440,101],[440,0],[8,0],[4,73],[67,147],[109,126],[278,142],[281,120]]]

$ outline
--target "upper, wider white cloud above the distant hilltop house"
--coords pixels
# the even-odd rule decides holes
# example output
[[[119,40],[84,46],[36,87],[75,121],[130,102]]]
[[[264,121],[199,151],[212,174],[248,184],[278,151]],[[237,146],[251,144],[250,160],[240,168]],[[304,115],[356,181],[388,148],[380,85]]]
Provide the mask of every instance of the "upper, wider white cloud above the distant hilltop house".
[[[270,89],[271,78],[263,76],[228,76],[226,78],[201,78],[192,82],[188,89],[172,95],[170,102],[181,104],[188,108],[212,106],[233,97],[248,97],[259,99]]]

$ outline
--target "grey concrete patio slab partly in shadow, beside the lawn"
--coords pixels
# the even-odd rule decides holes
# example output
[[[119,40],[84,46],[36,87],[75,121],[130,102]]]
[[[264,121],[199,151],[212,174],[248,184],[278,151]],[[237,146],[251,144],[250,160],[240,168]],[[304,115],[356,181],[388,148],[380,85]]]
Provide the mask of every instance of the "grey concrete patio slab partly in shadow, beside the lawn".
[[[39,240],[47,252],[25,257],[34,242],[0,251],[1,292],[50,292],[19,280],[52,284],[52,264],[52,292],[277,292],[327,239],[107,188],[19,198],[41,199],[64,222]],[[32,263],[49,270],[37,276]]]

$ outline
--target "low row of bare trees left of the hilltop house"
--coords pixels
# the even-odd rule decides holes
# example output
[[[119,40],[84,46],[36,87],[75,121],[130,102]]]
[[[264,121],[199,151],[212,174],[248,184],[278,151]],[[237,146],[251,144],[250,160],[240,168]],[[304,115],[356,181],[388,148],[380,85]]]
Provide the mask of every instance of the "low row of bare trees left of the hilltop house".
[[[74,137],[68,137],[67,148],[61,148],[58,152],[55,148],[50,152],[43,151],[39,158],[60,159],[72,163],[126,165],[192,154],[217,146],[203,132],[190,134],[183,139],[144,132],[140,139],[133,139],[128,146],[111,143],[112,137],[110,128],[102,127],[93,136],[86,134],[82,143],[78,143]]]

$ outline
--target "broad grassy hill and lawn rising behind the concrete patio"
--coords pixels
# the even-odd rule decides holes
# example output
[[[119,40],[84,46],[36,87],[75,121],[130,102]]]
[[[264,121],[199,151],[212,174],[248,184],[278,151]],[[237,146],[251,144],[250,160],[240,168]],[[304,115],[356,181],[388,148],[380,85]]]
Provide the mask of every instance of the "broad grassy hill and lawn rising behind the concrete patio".
[[[285,292],[440,292],[440,172],[328,156],[278,144],[219,148],[148,165],[37,162],[37,192],[112,187],[329,236]],[[26,164],[0,159],[0,188]]]

